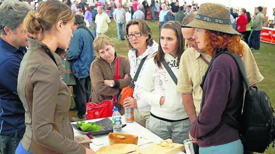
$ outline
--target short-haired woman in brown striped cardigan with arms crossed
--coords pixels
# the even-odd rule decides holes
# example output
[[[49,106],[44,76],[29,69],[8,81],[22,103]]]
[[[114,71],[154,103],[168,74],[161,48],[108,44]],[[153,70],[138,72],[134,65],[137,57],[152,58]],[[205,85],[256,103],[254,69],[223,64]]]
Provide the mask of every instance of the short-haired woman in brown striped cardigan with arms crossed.
[[[121,90],[129,86],[132,78],[128,58],[115,52],[113,41],[106,35],[99,35],[93,42],[94,52],[97,58],[92,62],[90,77],[92,81],[92,102],[100,103],[103,100],[112,100],[113,96],[119,96]],[[119,58],[119,76],[115,79],[116,62]],[[119,112],[124,114],[121,105],[116,104]]]

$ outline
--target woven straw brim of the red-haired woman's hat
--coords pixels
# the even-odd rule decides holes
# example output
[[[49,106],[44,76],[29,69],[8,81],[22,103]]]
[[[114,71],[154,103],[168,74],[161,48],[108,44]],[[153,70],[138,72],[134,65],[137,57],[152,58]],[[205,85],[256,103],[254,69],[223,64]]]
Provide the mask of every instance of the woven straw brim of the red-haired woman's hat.
[[[235,35],[241,35],[239,32],[233,29],[233,27],[229,24],[218,24],[218,23],[212,23],[207,21],[201,21],[194,19],[189,24],[181,26],[183,28],[202,28],[206,30],[214,30],[214,31],[220,31],[223,33],[228,34],[235,34]]]

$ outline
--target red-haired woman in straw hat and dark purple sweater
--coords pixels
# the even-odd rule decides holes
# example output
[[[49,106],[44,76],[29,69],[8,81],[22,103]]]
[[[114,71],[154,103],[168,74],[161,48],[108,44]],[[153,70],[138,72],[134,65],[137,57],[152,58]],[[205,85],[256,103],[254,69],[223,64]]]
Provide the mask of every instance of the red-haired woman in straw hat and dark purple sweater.
[[[244,91],[234,59],[228,54],[218,55],[225,50],[242,57],[244,52],[240,33],[230,25],[230,10],[220,4],[204,3],[186,26],[194,28],[192,38],[196,39],[198,48],[213,57],[202,81],[201,111],[189,137],[198,143],[200,154],[242,154],[238,130],[222,122],[224,113],[232,119],[240,117]]]

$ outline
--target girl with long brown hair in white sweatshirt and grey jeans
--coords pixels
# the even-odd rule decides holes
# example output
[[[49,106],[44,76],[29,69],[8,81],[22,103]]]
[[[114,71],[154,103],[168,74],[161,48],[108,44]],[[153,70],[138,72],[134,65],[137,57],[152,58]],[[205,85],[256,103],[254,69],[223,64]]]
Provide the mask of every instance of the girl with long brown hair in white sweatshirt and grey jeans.
[[[182,95],[162,63],[167,63],[178,77],[183,42],[180,23],[168,21],[163,24],[158,52],[148,60],[139,87],[140,99],[151,105],[150,131],[163,139],[171,138],[173,142],[181,144],[188,138],[190,121],[183,106]]]

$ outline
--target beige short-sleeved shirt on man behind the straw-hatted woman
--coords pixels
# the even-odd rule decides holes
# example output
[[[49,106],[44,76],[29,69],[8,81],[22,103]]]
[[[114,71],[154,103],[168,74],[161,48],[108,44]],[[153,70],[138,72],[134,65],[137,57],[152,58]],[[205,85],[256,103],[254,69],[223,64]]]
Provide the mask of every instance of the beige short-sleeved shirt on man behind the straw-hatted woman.
[[[250,48],[244,41],[241,40],[241,43],[245,48],[242,61],[244,62],[249,85],[261,82],[264,77],[259,71]],[[209,55],[204,54],[203,57],[210,62],[211,57]],[[188,48],[183,52],[180,59],[178,75],[180,80],[178,80],[177,90],[184,94],[192,94],[196,114],[200,113],[202,99],[200,83],[202,82],[202,76],[206,72],[207,67],[208,65],[200,58],[200,53],[194,48]]]

